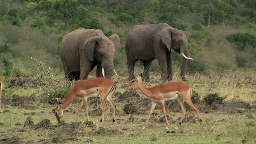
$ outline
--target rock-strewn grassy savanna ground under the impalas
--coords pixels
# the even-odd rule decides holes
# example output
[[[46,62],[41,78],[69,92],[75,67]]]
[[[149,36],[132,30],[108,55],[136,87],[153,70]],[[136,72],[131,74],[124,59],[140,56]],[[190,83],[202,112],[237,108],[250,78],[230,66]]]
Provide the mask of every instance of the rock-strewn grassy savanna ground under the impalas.
[[[217,74],[218,73],[218,74]],[[93,77],[93,75],[91,76]],[[200,94],[202,100],[208,94],[217,93],[221,97],[226,97],[224,102],[234,100],[244,100],[250,106],[256,104],[256,75],[253,71],[238,72],[219,72],[212,73],[210,76],[202,74],[188,75],[188,84]],[[89,115],[92,123],[86,122],[85,110],[82,108],[78,124],[75,124],[78,102],[73,102],[64,111],[64,123],[58,124],[52,114],[52,109],[56,104],[49,104],[48,101],[39,101],[34,98],[28,102],[20,102],[17,104],[13,100],[13,95],[33,97],[39,91],[45,90],[33,88],[31,84],[24,86],[5,87],[12,89],[10,96],[2,97],[2,111],[0,116],[0,143],[3,144],[22,144],[22,143],[95,143],[95,144],[241,144],[256,143],[256,112],[253,110],[238,109],[236,113],[214,112],[211,106],[200,104],[200,116],[203,120],[202,126],[199,122],[184,122],[175,129],[178,118],[181,113],[179,110],[173,112],[166,108],[167,115],[170,116],[170,126],[166,130],[164,122],[156,122],[159,116],[163,116],[162,110],[156,106],[154,112],[157,116],[150,118],[148,125],[143,130],[142,125],[147,114],[134,114],[130,120],[130,114],[124,114],[123,108],[125,102],[119,102],[118,96],[128,89],[127,77],[113,76],[118,88],[112,97],[116,103],[117,111],[115,124],[112,125],[111,108],[104,116],[104,120],[100,126],[96,127],[100,116],[96,114]],[[65,84],[62,78],[54,78],[55,85]],[[59,79],[59,80],[57,80]],[[179,73],[175,73],[173,81],[181,81]],[[150,82],[146,83],[146,87],[154,86],[160,83],[160,75],[151,73]],[[9,85],[7,80],[5,86]],[[136,91],[136,90],[135,90]],[[139,91],[136,91],[143,96]],[[43,93],[43,92],[42,92]],[[119,95],[118,95],[119,94]],[[40,96],[43,96],[42,94]],[[92,102],[93,99],[88,99]],[[135,103],[133,101],[130,102]],[[97,109],[99,102],[89,106],[89,112]],[[102,107],[102,106],[101,106]],[[144,110],[148,112],[150,105],[145,106]],[[25,126],[24,123],[28,117],[34,124]],[[187,116],[195,116],[188,110]],[[46,120],[48,119],[48,120]],[[50,125],[40,126],[42,121],[46,120]],[[45,122],[45,121],[44,121]]]

